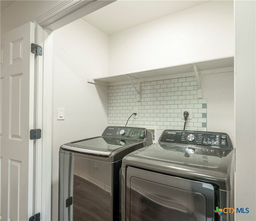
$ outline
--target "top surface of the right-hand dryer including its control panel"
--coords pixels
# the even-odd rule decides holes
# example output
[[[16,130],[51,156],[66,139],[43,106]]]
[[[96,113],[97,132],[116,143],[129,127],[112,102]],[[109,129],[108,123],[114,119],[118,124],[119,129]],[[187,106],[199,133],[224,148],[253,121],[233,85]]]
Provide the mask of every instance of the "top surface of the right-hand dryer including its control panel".
[[[122,167],[201,180],[230,190],[233,152],[232,142],[225,133],[165,130],[158,143],[124,157]]]

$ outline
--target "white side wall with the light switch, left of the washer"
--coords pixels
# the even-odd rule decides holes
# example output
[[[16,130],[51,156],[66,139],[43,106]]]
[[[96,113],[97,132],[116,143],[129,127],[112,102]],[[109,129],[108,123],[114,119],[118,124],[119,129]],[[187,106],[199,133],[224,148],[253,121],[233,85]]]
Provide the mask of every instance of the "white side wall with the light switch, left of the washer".
[[[87,77],[108,74],[108,36],[77,20],[53,32],[52,220],[58,220],[58,151],[60,145],[101,135],[107,122],[107,87]],[[57,108],[65,120],[57,120]]]

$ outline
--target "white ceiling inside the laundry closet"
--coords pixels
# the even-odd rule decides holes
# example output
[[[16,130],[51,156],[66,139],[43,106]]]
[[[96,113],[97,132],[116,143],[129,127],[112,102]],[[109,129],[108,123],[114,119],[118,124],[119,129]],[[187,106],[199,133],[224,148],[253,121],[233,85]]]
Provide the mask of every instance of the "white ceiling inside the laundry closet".
[[[83,20],[110,35],[205,3],[205,0],[118,0]]]

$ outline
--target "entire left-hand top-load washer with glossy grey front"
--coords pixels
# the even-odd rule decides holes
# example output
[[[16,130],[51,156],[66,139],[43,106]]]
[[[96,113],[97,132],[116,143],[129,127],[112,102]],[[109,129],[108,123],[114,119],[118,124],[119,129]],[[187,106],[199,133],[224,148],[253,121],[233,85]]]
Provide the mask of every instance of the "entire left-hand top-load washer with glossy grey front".
[[[108,126],[59,151],[59,221],[120,220],[124,156],[152,144],[145,128]]]

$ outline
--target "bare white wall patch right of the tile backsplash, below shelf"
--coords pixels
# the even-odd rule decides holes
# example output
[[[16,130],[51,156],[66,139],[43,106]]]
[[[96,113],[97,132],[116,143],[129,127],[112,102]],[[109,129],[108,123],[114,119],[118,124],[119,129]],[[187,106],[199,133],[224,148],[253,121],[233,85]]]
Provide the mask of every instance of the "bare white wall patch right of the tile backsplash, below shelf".
[[[207,131],[227,133],[235,144],[234,72],[202,75]]]

